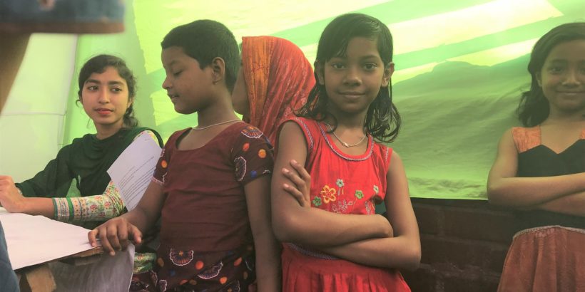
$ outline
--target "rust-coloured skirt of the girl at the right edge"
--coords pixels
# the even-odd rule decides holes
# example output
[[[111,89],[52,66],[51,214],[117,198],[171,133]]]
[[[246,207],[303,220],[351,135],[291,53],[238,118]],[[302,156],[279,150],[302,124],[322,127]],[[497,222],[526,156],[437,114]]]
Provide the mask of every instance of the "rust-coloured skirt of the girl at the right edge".
[[[585,292],[585,230],[544,226],[519,231],[498,291]]]

